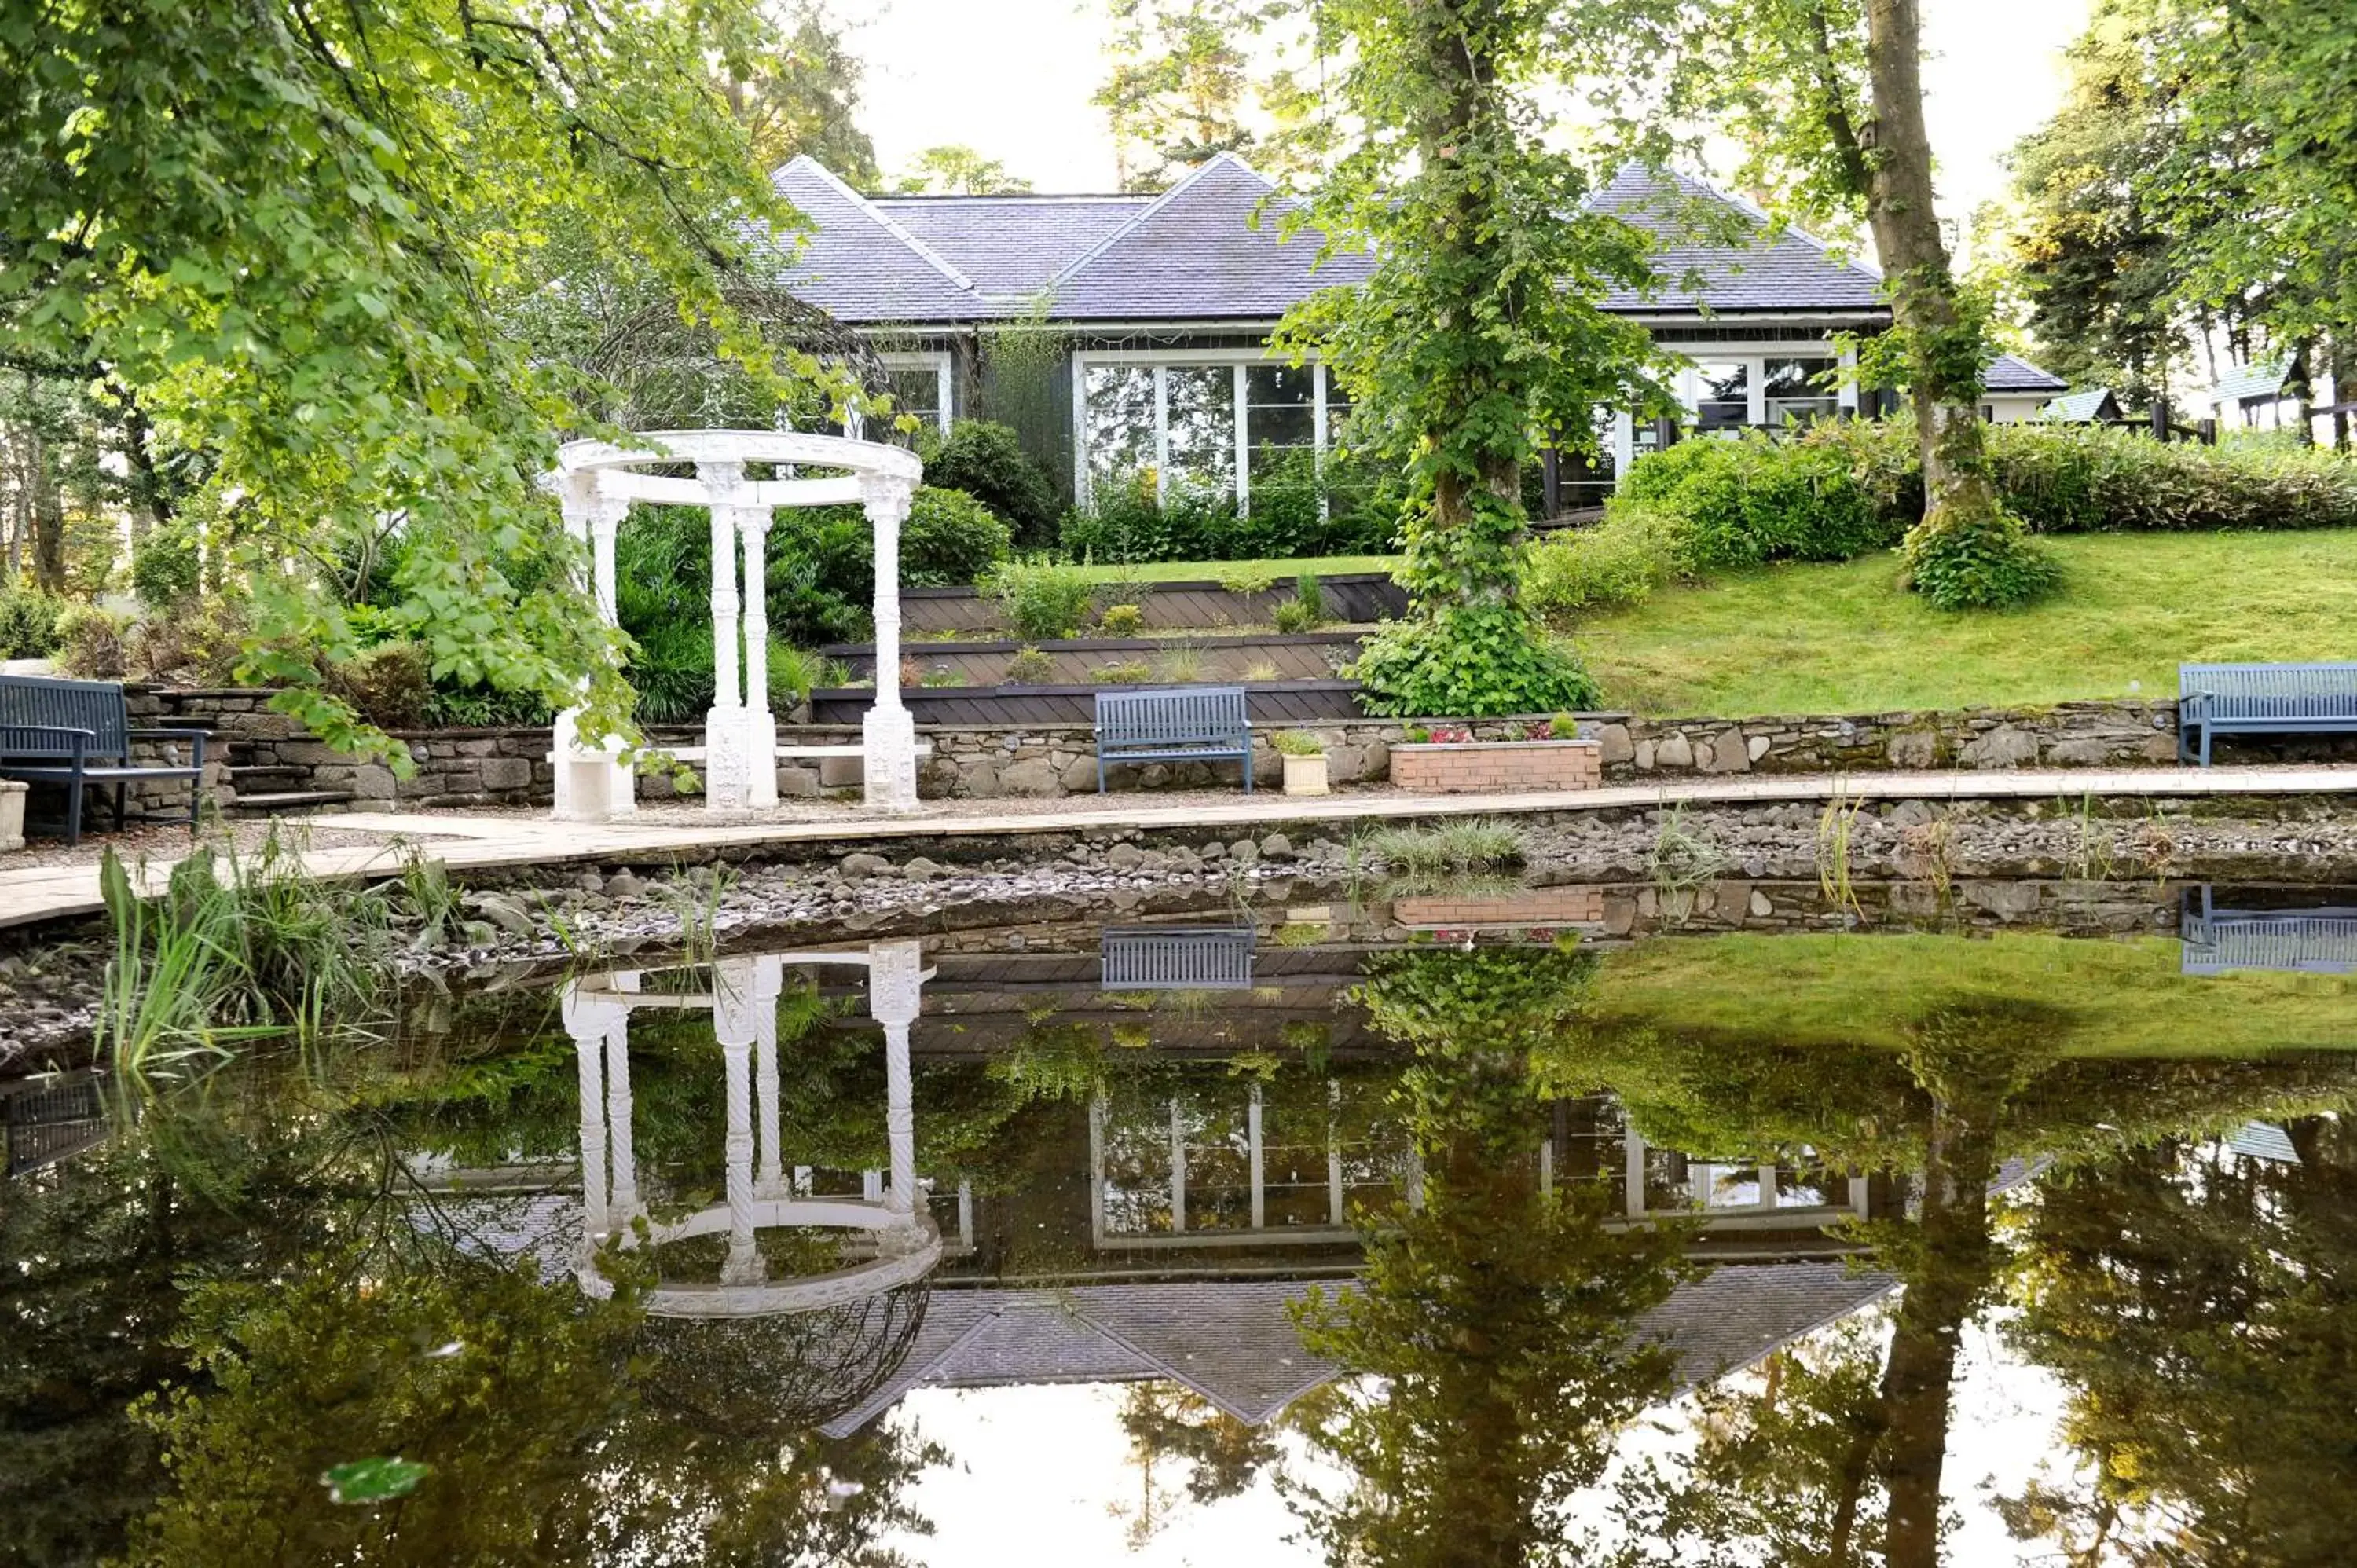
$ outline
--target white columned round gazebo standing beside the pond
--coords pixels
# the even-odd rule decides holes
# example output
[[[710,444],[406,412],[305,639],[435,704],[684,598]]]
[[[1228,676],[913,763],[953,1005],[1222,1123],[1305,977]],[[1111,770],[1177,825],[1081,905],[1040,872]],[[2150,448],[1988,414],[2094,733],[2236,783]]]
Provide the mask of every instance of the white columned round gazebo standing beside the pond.
[[[695,465],[693,479],[643,474],[651,465]],[[745,465],[773,465],[778,479],[747,479]],[[841,469],[797,479],[792,469]],[[566,528],[589,547],[599,615],[615,625],[613,538],[632,502],[712,509],[712,710],[705,714],[705,806],[759,811],[778,804],[778,719],[768,710],[768,601],[764,549],[778,507],[858,502],[874,528],[877,700],[860,724],[867,806],[915,811],[917,724],[900,705],[900,523],[924,476],[917,455],[877,441],[764,429],[648,431],[632,446],[568,441],[549,488]],[[742,589],[738,571],[742,566]],[[745,648],[742,681],[738,646]],[[556,818],[599,823],[636,809],[620,743],[582,745],[577,710],[556,714]],[[825,752],[827,747],[816,747]],[[811,747],[797,747],[808,755]]]

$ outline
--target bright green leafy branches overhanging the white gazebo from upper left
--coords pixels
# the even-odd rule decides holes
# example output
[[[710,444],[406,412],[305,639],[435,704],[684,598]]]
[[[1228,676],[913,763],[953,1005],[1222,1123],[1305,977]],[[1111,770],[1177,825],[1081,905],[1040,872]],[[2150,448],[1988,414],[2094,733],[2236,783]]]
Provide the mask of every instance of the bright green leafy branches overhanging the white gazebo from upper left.
[[[120,387],[207,453],[255,594],[252,674],[330,738],[356,651],[332,589],[398,523],[391,620],[438,677],[563,703],[613,634],[535,490],[580,377],[500,330],[587,255],[726,323],[745,219],[792,224],[714,92],[775,42],[747,0],[94,0],[0,21],[0,323],[12,363]],[[552,231],[580,255],[552,264]],[[768,363],[750,332],[726,347]],[[794,373],[820,375],[797,361]]]

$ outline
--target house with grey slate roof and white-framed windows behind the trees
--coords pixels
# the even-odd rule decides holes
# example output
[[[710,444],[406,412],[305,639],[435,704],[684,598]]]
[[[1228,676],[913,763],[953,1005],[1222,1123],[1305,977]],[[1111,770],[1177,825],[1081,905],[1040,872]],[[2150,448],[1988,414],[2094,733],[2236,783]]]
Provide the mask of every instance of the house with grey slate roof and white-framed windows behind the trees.
[[[1160,196],[863,196],[813,158],[773,184],[811,219],[780,281],[874,340],[900,408],[940,429],[1014,424],[1075,498],[1153,474],[1249,502],[1256,472],[1325,450],[1348,417],[1325,365],[1273,356],[1268,335],[1369,262],[1285,238],[1287,203],[1233,153]],[[1662,238],[1662,285],[1603,304],[1685,358],[1673,389],[1692,429],[1855,410],[1838,340],[1890,325],[1881,274],[1697,179],[1629,165],[1593,205]],[[1697,210],[1728,243],[1688,238]],[[1006,351],[1035,335],[1049,351]],[[1042,384],[1011,384],[1014,365]],[[2032,417],[2062,389],[2006,356],[1985,413]],[[1655,441],[1626,413],[1598,420],[1605,476]]]

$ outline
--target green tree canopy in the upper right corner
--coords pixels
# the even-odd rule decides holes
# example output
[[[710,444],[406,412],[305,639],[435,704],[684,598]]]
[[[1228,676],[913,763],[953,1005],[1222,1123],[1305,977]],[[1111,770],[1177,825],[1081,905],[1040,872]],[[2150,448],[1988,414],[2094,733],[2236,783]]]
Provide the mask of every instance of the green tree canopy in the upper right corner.
[[[2015,151],[2013,245],[2060,363],[2161,384],[2187,332],[2216,328],[2289,356],[2300,387],[2357,375],[2352,52],[2333,0],[2095,9],[2069,99]]]

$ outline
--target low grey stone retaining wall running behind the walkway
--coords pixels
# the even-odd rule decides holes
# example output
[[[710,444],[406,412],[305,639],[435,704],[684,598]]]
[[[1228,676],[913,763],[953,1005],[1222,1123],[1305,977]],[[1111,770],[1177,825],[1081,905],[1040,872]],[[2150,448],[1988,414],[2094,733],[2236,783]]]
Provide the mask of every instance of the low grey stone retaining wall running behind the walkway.
[[[542,804],[552,792],[547,729],[401,731],[420,771],[396,780],[391,769],[354,762],[280,714],[259,691],[132,691],[132,722],[144,726],[203,726],[214,733],[207,785],[224,792],[224,764],[285,769],[271,790],[349,790],[358,804]],[[1532,719],[1457,722],[1475,740],[1520,740]],[[1428,722],[1426,722],[1428,724]],[[1888,712],[1850,717],[1772,719],[1638,719],[1589,714],[1600,773],[1610,780],[1678,773],[1827,773],[1881,769],[2013,769],[2013,766],[2152,766],[2176,759],[2176,703],[2060,703],[2055,707]],[[1254,776],[1270,788],[1282,778],[1270,736],[1306,729],[1325,740],[1336,785],[1386,780],[1393,747],[1405,745],[1400,719],[1266,724],[1254,733]],[[1084,795],[1096,790],[1096,750],[1089,726],[926,726],[933,757],[919,766],[919,792],[964,799]],[[693,729],[662,729],[658,743],[688,745]],[[783,726],[787,745],[846,745],[851,726]],[[1586,750],[1586,747],[1582,747]],[[2220,745],[2220,759],[2357,762],[2357,738],[2303,738],[2270,745]],[[1113,769],[1115,790],[1183,790],[1233,785],[1237,764],[1148,764]],[[818,795],[858,785],[858,762],[778,769],[783,795]],[[641,797],[672,795],[662,776],[639,780]],[[186,802],[181,785],[139,792],[153,811]]]

